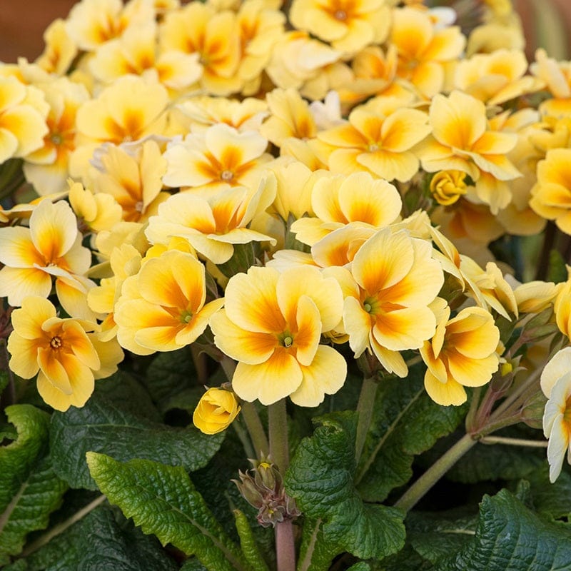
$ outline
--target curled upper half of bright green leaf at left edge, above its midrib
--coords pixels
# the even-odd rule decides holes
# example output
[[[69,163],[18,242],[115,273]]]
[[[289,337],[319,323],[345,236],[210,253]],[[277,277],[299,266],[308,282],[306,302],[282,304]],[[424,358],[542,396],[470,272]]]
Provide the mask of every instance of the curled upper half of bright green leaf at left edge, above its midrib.
[[[6,407],[6,417],[18,438],[0,448],[0,510],[4,512],[44,453],[48,440],[49,415],[32,405]]]

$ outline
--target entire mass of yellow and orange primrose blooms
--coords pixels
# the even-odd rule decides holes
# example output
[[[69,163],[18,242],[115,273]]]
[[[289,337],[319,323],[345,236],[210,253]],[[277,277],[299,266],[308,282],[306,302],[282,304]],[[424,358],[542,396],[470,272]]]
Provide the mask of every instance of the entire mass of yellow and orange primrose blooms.
[[[236,365],[210,434],[355,368],[421,361],[460,405],[569,343],[571,278],[517,283],[496,246],[571,234],[571,63],[528,69],[493,3],[470,33],[420,1],[279,4],[81,0],[0,64],[0,161],[37,195],[0,210],[9,364],[52,407],[193,343]],[[567,377],[542,380],[552,478]]]

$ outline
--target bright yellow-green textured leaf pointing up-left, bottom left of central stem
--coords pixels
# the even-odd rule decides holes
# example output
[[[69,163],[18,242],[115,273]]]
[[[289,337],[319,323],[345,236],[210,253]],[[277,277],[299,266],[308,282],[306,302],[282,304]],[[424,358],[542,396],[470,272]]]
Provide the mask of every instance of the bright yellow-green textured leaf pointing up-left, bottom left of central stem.
[[[248,570],[241,550],[208,510],[183,468],[150,460],[123,463],[94,452],[87,453],[87,463],[99,489],[144,533],[196,555],[208,570]]]

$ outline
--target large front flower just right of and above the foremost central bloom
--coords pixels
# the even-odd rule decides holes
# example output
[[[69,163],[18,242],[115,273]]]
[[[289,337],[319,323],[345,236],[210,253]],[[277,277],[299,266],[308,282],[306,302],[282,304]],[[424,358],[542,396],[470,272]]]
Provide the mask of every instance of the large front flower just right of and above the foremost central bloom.
[[[375,233],[353,258],[353,295],[345,298],[343,325],[359,357],[372,351],[389,373],[403,378],[408,368],[398,353],[430,339],[436,319],[429,304],[444,283],[428,241],[390,228]]]

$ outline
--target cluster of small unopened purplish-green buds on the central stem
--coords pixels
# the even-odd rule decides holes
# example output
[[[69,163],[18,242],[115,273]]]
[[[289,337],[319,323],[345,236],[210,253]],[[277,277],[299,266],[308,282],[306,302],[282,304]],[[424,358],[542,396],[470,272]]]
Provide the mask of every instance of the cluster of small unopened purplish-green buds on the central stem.
[[[240,481],[233,480],[246,501],[258,509],[258,523],[275,526],[300,515],[293,497],[285,493],[283,479],[269,458],[250,460],[253,465],[246,473],[239,471]]]

